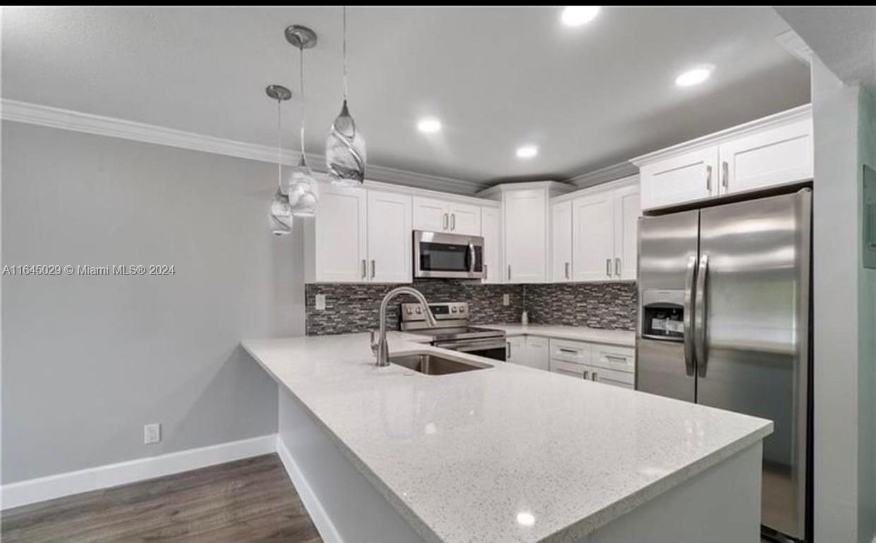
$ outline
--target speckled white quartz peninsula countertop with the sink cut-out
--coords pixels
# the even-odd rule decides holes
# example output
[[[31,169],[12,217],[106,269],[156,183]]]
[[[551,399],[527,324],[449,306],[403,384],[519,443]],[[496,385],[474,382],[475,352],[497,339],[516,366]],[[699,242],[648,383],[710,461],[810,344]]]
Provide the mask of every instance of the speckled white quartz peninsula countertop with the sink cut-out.
[[[390,351],[448,353],[422,341],[393,333]],[[773,429],[517,364],[444,376],[377,368],[368,343],[352,334],[243,346],[427,541],[581,538]]]

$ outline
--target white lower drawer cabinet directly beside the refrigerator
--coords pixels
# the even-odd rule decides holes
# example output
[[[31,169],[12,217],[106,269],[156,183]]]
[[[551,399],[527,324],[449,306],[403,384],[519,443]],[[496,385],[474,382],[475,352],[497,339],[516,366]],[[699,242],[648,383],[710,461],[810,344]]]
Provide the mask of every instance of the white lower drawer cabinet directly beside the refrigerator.
[[[550,342],[549,368],[576,379],[632,389],[636,355],[632,347],[555,340]]]

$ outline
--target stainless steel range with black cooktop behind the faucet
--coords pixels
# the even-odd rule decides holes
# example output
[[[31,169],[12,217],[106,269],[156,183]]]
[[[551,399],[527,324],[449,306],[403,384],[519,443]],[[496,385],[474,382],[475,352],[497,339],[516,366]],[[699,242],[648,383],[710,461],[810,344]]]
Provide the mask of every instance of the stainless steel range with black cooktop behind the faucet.
[[[429,310],[434,316],[434,327],[429,326],[419,303],[400,304],[399,328],[404,332],[430,336],[435,347],[505,361],[505,332],[470,326],[469,304],[464,301],[429,304]]]

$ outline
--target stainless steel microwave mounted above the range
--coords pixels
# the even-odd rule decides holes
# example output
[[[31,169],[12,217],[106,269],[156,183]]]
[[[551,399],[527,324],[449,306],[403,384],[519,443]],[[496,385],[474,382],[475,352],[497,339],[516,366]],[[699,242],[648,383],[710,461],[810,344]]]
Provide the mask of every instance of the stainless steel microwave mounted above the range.
[[[482,279],[484,238],[414,230],[413,277]]]

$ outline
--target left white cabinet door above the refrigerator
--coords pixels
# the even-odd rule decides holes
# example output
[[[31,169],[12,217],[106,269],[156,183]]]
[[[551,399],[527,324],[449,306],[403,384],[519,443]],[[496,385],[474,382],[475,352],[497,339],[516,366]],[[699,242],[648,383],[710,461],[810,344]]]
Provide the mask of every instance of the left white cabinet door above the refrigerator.
[[[639,169],[642,208],[660,208],[718,194],[717,146],[686,152]]]

